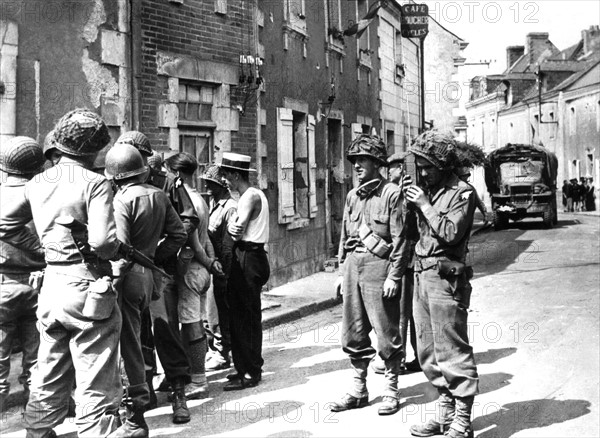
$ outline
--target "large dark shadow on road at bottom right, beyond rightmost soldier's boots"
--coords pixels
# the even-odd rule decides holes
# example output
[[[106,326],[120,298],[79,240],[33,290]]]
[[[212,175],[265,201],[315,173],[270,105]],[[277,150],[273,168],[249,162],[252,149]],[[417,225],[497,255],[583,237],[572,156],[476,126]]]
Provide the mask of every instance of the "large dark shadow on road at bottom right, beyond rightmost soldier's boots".
[[[586,400],[527,400],[502,406],[484,406],[484,412],[493,413],[475,418],[473,428],[478,438],[513,436],[531,428],[563,423],[590,413]]]

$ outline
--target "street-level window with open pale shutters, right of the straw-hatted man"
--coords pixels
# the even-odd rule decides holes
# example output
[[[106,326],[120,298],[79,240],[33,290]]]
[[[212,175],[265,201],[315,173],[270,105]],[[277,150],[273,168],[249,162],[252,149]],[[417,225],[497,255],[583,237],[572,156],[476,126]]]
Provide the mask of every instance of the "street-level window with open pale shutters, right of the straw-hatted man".
[[[288,228],[308,225],[318,211],[314,116],[277,109],[277,169],[279,223]]]

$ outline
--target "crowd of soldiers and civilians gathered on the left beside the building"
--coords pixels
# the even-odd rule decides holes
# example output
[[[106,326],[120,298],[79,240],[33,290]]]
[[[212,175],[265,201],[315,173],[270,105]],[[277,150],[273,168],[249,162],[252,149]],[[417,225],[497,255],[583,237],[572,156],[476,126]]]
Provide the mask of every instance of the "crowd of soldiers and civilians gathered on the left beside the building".
[[[163,161],[129,131],[94,168],[109,142],[104,121],[77,109],[43,148],[0,146],[0,404],[18,338],[28,438],[56,436],[73,405],[79,436],[147,437],[155,352],[174,423],[190,421],[187,400],[208,397],[206,370],[228,368],[230,353],[225,390],[262,377],[269,206],[250,157],[225,152],[206,169],[209,206],[191,154]],[[211,284],[219,319],[208,323]]]

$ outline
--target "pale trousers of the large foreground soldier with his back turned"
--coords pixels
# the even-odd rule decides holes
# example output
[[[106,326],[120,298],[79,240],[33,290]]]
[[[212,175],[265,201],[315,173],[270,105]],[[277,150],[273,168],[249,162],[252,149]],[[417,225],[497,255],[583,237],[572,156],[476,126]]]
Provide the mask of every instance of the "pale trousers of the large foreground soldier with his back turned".
[[[27,437],[41,437],[66,418],[73,380],[78,436],[103,437],[118,427],[121,311],[114,305],[105,319],[83,316],[94,278],[84,264],[46,268],[38,300],[38,363],[24,416]]]

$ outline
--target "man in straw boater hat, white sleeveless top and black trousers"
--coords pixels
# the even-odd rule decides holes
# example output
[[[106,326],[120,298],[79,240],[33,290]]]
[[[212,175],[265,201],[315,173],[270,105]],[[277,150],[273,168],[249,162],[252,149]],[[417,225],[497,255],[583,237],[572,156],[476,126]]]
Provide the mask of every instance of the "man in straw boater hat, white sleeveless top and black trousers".
[[[218,165],[231,190],[240,194],[237,216],[227,224],[235,241],[227,282],[230,305],[231,352],[236,374],[225,391],[258,385],[262,379],[262,310],[260,293],[270,275],[265,244],[269,240],[269,203],[250,186],[250,157],[224,152]]]

